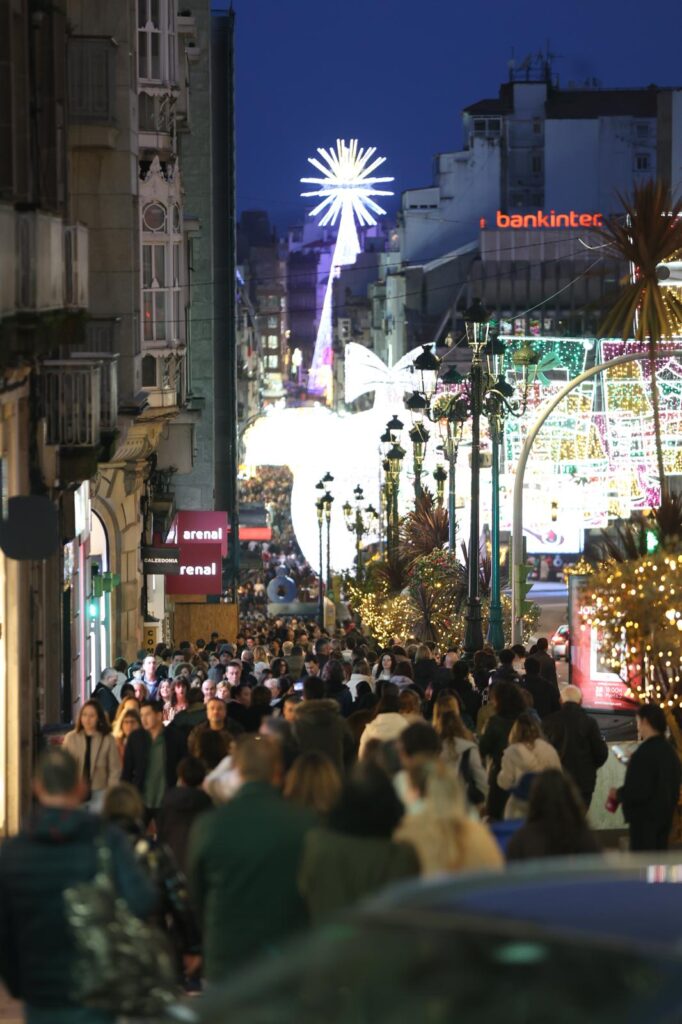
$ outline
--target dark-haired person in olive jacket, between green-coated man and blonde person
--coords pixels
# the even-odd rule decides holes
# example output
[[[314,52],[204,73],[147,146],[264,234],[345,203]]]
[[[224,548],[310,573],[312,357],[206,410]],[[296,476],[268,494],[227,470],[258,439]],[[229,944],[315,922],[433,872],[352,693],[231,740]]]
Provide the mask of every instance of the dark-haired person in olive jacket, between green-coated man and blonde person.
[[[327,825],[305,840],[299,882],[313,924],[419,873],[414,847],[392,838],[402,814],[385,772],[375,764],[357,765]]]

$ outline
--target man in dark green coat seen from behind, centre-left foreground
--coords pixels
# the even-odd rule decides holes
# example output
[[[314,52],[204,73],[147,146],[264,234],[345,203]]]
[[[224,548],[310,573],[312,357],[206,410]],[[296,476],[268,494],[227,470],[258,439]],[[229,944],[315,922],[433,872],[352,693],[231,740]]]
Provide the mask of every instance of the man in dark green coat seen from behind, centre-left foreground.
[[[297,879],[314,818],[283,799],[272,740],[245,736],[233,758],[240,788],[198,818],[189,836],[187,878],[209,982],[279,948],[306,924]]]

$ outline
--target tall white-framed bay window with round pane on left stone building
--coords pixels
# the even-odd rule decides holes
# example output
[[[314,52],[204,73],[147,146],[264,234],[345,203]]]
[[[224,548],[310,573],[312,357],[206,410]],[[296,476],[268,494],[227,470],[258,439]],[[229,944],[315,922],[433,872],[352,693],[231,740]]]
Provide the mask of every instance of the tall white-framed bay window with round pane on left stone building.
[[[184,336],[180,213],[155,201],[142,207],[141,220],[142,341],[173,345]]]

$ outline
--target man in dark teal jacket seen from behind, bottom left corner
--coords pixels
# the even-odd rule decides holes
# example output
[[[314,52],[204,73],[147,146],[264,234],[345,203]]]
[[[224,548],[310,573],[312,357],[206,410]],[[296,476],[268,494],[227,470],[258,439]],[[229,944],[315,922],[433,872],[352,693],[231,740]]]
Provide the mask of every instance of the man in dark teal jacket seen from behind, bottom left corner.
[[[26,1001],[31,1024],[113,1024],[110,1014],[74,1001],[79,964],[63,891],[94,877],[102,841],[113,853],[117,890],[134,914],[154,909],[154,884],[123,833],[81,810],[84,783],[67,751],[42,756],[34,790],[38,812],[0,846],[0,977]]]

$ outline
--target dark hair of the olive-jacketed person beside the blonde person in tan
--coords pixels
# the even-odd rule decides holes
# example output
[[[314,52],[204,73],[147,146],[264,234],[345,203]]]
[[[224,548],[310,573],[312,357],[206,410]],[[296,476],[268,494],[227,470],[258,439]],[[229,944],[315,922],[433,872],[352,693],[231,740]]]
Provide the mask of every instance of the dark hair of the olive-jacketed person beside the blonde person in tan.
[[[393,783],[372,762],[357,765],[346,779],[329,826],[347,836],[390,839],[403,814]]]

